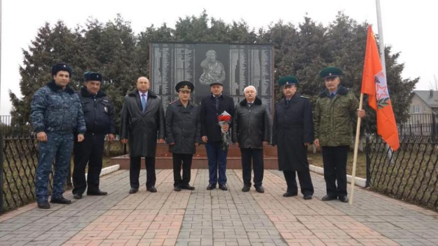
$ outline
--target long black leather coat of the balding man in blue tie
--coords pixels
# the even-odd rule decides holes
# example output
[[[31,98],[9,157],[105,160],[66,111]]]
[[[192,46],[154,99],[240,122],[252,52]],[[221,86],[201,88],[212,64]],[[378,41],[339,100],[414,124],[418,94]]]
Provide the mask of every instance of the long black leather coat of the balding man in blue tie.
[[[128,139],[130,157],[155,157],[157,138],[165,138],[164,110],[159,96],[149,91],[143,113],[138,90],[126,95],[120,117],[120,138]]]

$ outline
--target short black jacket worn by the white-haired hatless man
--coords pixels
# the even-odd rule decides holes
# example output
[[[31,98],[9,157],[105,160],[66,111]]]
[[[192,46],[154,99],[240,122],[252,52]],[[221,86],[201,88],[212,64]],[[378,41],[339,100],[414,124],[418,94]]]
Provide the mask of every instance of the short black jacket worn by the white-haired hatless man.
[[[240,148],[263,148],[263,141],[271,141],[269,112],[258,97],[251,107],[246,99],[236,105],[233,118],[233,142],[239,142]]]

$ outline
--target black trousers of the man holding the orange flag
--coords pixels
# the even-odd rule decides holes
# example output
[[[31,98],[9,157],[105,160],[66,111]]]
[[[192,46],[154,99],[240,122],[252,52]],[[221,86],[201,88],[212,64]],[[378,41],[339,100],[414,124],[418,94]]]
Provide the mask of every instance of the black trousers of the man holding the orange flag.
[[[347,157],[348,145],[322,146],[324,180],[327,195],[347,195]],[[337,187],[336,187],[337,183]]]

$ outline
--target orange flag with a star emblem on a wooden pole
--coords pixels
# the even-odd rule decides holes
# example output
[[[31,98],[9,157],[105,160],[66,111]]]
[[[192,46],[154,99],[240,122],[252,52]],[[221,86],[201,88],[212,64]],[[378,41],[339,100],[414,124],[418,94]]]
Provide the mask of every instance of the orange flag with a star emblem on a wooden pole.
[[[368,26],[367,49],[363,64],[361,93],[368,94],[368,104],[377,114],[377,133],[392,150],[400,147],[394,111],[389,98],[386,77],[380,63],[373,29]]]

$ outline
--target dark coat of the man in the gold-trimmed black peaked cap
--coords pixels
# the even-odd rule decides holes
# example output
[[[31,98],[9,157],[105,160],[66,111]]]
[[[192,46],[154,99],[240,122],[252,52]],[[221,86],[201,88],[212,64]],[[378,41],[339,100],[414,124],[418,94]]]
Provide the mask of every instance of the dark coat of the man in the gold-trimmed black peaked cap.
[[[177,100],[166,110],[166,141],[169,151],[179,154],[194,154],[195,142],[201,142],[199,107],[189,101],[187,107]]]

